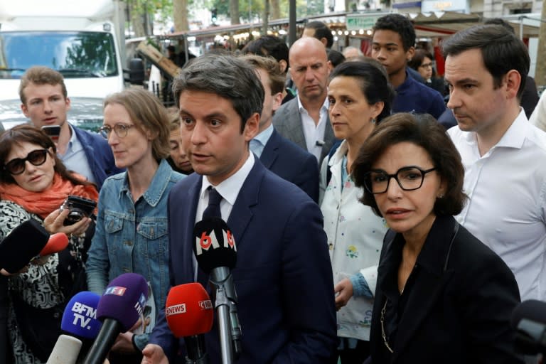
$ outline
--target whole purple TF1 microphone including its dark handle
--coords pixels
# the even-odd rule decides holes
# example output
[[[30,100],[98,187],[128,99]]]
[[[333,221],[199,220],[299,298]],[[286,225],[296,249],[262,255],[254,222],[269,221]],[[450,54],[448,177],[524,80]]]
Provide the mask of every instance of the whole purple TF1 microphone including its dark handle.
[[[102,327],[84,364],[102,364],[119,333],[129,331],[142,316],[148,301],[148,284],[140,274],[124,273],[112,279],[97,306]]]

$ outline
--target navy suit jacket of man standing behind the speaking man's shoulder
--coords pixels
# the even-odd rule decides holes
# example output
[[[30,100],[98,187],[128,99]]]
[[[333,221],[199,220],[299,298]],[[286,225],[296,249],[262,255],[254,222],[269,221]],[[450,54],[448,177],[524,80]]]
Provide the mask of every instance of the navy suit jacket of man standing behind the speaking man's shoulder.
[[[259,160],[277,176],[294,183],[319,202],[319,165],[309,151],[284,138],[275,129]]]

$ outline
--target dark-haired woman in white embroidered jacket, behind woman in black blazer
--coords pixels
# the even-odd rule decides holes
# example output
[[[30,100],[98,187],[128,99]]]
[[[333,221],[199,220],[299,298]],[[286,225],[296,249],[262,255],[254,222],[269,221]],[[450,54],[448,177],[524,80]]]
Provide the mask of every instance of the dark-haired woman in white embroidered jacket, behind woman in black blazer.
[[[390,114],[392,89],[375,60],[334,68],[328,85],[333,133],[343,141],[321,167],[321,210],[328,236],[336,294],[341,364],[368,358],[373,287],[387,226],[358,202],[362,188],[349,172],[358,149]],[[329,178],[328,178],[329,175]]]

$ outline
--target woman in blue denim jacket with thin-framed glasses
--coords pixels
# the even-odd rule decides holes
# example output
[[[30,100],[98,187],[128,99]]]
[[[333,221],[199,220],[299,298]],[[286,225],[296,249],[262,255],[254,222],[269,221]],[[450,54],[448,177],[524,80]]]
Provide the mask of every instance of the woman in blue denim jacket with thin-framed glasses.
[[[133,88],[110,95],[104,116],[101,133],[116,166],[127,171],[107,178],[100,191],[87,283],[102,294],[123,273],[141,274],[149,282],[144,322],[120,334],[109,355],[112,364],[140,363],[156,311],[168,293],[167,198],[183,175],[164,159],[169,154],[168,115],[150,92]]]

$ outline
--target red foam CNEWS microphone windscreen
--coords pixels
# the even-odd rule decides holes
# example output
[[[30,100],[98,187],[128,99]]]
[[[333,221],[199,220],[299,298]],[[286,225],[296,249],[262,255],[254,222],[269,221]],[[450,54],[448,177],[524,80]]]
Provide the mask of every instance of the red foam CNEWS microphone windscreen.
[[[180,284],[168,291],[165,316],[176,338],[208,333],[213,327],[213,303],[201,284]]]

